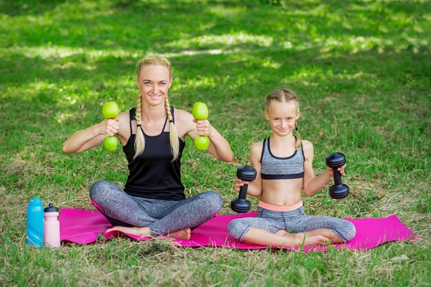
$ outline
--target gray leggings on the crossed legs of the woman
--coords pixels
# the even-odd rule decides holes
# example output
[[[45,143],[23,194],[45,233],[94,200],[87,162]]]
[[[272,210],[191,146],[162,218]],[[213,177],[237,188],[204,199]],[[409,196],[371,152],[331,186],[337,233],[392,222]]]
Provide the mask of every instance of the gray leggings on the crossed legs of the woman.
[[[113,182],[100,180],[90,187],[93,204],[113,225],[148,226],[151,235],[166,235],[196,227],[222,209],[222,196],[205,191],[185,200],[154,200],[128,195]]]

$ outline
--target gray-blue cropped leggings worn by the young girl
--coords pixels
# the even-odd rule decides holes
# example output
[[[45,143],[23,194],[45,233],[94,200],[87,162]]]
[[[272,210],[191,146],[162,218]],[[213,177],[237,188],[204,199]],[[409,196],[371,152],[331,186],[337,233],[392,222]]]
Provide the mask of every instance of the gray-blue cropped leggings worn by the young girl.
[[[229,222],[227,230],[231,237],[242,241],[244,235],[252,227],[264,228],[271,233],[275,233],[280,229],[288,233],[299,233],[328,228],[332,229],[335,235],[343,242],[348,242],[356,234],[356,228],[353,223],[335,217],[306,215],[302,206],[293,211],[271,211],[257,207],[257,217],[232,220]]]

